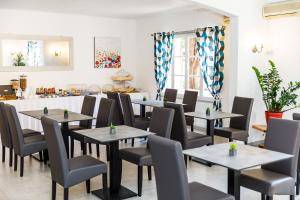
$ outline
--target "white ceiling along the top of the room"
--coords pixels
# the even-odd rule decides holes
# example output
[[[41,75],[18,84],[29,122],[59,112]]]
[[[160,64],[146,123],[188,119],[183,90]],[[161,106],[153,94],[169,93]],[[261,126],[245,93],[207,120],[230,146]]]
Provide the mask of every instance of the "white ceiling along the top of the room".
[[[0,8],[138,18],[200,7],[189,0],[0,0]]]

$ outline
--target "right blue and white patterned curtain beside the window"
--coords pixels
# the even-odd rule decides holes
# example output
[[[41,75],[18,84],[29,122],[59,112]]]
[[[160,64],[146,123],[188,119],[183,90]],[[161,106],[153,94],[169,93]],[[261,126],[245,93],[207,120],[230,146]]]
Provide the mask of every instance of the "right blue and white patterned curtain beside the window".
[[[214,98],[213,108],[222,111],[220,92],[224,80],[224,38],[225,27],[207,27],[196,31],[197,50],[201,63],[204,82]],[[222,120],[217,120],[215,126],[221,127]]]

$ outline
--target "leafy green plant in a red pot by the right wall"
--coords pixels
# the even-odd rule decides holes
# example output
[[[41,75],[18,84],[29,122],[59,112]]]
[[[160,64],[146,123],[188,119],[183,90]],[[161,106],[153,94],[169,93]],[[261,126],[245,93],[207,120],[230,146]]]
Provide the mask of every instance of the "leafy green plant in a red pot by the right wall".
[[[290,81],[287,87],[282,86],[283,80],[275,64],[269,60],[270,69],[262,74],[258,68],[254,70],[259,86],[262,91],[263,101],[266,105],[265,117],[268,123],[271,117],[282,118],[284,112],[299,107],[297,104],[297,90],[300,88],[300,81]]]

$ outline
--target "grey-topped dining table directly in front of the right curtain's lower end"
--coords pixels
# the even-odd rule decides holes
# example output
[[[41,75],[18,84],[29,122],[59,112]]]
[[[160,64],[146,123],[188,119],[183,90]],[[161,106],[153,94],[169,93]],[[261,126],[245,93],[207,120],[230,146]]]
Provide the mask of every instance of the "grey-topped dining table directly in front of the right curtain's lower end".
[[[242,117],[243,115],[229,113],[229,112],[220,112],[220,111],[213,111],[210,114],[206,114],[205,112],[186,112],[184,113],[185,116],[194,117],[198,119],[206,120],[206,134],[211,136],[211,144],[214,144],[214,128],[215,128],[215,121],[218,119],[229,119],[234,117]]]

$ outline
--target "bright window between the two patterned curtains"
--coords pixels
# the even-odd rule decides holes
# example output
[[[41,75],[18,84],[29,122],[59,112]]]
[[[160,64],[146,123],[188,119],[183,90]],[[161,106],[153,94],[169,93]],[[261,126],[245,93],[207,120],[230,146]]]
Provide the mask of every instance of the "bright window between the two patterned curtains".
[[[195,36],[175,37],[173,63],[169,72],[167,87],[178,89],[179,94],[184,94],[184,90],[198,90],[201,98],[212,98],[203,81],[197,54]]]

